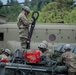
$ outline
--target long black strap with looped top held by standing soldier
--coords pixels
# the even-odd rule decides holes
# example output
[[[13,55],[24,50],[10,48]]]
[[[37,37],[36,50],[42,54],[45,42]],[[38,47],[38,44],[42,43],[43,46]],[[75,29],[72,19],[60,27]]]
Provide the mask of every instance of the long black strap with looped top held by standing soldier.
[[[36,16],[35,16],[36,15]],[[34,11],[32,13],[32,19],[33,19],[33,22],[31,24],[31,28],[30,28],[30,31],[28,33],[28,39],[27,39],[27,45],[26,45],[26,49],[30,49],[30,41],[31,41],[31,37],[32,37],[32,34],[33,34],[33,30],[34,30],[34,27],[35,27],[35,24],[36,24],[36,20],[38,19],[39,17],[39,13],[37,11]]]

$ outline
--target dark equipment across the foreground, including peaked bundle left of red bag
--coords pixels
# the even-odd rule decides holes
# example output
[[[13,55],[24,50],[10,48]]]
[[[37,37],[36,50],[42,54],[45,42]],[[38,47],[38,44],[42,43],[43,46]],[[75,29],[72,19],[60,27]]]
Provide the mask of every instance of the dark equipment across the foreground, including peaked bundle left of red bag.
[[[22,52],[16,49],[10,63],[0,63],[0,75],[36,75],[41,72],[45,75],[67,75],[67,66],[55,60],[50,60],[50,66],[38,63],[26,63]]]

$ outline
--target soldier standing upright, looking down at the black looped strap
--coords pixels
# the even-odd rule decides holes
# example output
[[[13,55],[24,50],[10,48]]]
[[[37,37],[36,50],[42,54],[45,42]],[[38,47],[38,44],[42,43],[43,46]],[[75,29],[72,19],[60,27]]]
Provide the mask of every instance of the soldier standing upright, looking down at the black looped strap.
[[[29,13],[30,13],[30,8],[28,6],[24,6],[22,8],[22,12],[19,14],[17,18],[17,26],[19,28],[19,37],[21,41],[22,50],[25,50],[26,48],[29,26],[32,23],[32,20],[27,19],[27,15]]]

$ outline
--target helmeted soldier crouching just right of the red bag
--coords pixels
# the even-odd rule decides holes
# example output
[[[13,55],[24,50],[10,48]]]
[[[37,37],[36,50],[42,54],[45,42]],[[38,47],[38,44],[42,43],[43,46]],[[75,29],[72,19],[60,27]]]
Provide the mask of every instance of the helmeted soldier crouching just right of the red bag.
[[[44,43],[40,43],[38,48],[41,51],[41,56],[40,56],[41,60],[39,64],[42,64],[44,66],[50,66],[49,51],[47,50],[46,45]]]

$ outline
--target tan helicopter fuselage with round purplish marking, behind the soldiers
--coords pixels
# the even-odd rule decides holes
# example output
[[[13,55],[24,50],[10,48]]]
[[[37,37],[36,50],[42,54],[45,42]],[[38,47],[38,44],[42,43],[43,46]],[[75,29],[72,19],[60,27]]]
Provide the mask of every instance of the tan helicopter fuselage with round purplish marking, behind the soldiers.
[[[76,44],[76,25],[68,24],[36,24],[31,38],[31,48],[43,40],[48,41],[50,49],[56,49],[58,44]],[[21,48],[17,23],[0,24],[0,48],[14,50]]]

